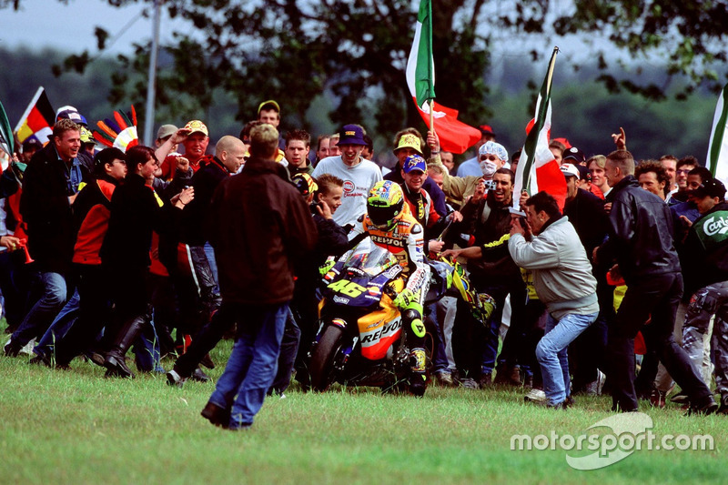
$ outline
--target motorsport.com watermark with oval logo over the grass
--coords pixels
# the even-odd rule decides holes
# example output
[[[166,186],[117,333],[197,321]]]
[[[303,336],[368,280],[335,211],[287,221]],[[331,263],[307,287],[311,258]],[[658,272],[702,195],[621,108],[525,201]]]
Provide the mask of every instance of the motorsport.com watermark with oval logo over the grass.
[[[609,428],[605,434],[560,435],[551,430],[549,435],[513,435],[511,450],[564,450],[584,456],[567,453],[566,462],[576,470],[597,470],[608,467],[630,456],[637,450],[699,450],[712,451],[715,443],[712,435],[666,434],[658,437],[652,432],[652,418],[641,412],[622,413],[591,425],[589,429]]]

